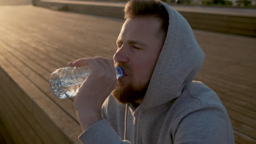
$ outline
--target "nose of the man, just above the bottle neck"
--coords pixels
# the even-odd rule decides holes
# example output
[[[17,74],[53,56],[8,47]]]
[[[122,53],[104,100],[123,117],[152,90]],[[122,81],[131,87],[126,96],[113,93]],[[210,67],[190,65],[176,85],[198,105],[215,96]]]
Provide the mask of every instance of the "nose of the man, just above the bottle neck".
[[[125,46],[121,46],[115,55],[113,56],[115,62],[127,63],[129,61],[129,52],[125,49]]]

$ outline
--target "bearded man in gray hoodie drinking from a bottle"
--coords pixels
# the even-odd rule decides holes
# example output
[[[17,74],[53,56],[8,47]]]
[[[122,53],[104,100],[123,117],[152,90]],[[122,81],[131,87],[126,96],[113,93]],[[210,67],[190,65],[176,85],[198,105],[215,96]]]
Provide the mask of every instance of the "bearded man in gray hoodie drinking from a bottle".
[[[193,81],[204,54],[185,19],[159,1],[125,7],[114,65],[82,58],[91,74],[74,100],[83,143],[234,143],[230,119],[216,93]],[[111,94],[110,94],[111,93]]]

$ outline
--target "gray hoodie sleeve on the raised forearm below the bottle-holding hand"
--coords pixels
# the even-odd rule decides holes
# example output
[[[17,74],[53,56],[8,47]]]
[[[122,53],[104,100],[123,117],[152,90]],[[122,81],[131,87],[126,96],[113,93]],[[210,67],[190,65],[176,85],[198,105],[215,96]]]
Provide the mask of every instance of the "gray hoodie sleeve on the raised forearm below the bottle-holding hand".
[[[78,139],[82,143],[112,143],[112,144],[130,144],[129,141],[122,141],[109,125],[106,119],[102,119],[93,124],[89,129],[84,131]]]

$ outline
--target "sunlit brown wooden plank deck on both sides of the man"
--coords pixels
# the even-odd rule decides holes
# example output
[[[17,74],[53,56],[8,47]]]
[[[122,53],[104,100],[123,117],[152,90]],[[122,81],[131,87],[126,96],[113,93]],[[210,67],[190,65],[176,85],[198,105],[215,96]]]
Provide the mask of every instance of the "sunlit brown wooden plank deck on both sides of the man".
[[[122,25],[31,5],[0,6],[0,119],[15,143],[79,143],[73,99],[55,98],[50,74],[73,59],[112,57]],[[196,80],[218,93],[236,143],[255,144],[256,39],[194,32],[206,53]]]

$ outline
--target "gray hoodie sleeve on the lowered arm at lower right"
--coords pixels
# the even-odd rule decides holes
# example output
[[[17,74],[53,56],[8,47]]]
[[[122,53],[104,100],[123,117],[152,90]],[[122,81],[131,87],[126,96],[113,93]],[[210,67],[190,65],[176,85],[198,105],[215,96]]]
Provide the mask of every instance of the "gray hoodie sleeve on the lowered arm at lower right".
[[[229,131],[231,123],[221,107],[203,107],[190,112],[178,124],[173,136],[177,144],[234,144]]]

